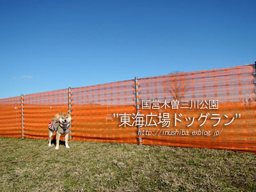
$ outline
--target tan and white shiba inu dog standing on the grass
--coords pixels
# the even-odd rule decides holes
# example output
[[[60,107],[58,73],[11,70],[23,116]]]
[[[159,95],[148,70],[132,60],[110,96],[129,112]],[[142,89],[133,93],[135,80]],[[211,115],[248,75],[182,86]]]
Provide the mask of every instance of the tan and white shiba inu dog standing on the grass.
[[[71,115],[70,111],[67,113],[61,113],[59,112],[58,114],[54,115],[52,118],[52,122],[48,125],[49,128],[49,147],[51,147],[51,140],[52,140],[52,135],[56,131],[56,148],[59,149],[60,147],[60,136],[61,134],[65,134],[65,147],[70,148],[68,146],[68,133],[69,133],[69,128],[70,128],[70,122],[71,122]]]

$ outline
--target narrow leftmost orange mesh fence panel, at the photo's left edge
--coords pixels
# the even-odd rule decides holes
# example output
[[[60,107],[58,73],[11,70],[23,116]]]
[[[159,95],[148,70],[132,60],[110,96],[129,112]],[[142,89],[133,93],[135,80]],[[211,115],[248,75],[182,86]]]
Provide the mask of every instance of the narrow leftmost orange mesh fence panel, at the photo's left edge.
[[[0,99],[0,136],[21,138],[20,97]]]

